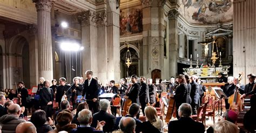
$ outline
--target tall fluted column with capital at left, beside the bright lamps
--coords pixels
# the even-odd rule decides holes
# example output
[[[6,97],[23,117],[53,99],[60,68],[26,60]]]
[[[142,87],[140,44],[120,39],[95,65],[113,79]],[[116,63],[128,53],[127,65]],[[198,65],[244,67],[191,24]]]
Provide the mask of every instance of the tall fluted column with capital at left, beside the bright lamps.
[[[33,0],[37,9],[39,77],[53,79],[51,0]]]

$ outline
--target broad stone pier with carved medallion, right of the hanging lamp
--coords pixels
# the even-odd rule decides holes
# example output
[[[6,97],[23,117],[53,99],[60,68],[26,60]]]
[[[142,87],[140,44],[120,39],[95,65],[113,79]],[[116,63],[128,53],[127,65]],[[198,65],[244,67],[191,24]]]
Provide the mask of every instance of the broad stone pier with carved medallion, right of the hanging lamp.
[[[164,72],[164,9],[166,1],[143,0],[143,76]],[[161,77],[163,74],[161,74]]]

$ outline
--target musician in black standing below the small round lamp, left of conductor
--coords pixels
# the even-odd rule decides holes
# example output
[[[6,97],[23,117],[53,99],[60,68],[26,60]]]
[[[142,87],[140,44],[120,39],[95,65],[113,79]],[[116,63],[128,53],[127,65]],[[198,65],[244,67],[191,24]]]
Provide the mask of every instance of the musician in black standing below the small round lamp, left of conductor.
[[[66,85],[66,79],[62,77],[62,78],[59,78],[59,86],[57,86],[57,91],[56,91],[56,104],[59,105],[59,108],[60,108],[60,102],[62,102],[62,97],[64,94],[68,98],[68,101],[70,101],[72,91],[70,89],[70,86]]]

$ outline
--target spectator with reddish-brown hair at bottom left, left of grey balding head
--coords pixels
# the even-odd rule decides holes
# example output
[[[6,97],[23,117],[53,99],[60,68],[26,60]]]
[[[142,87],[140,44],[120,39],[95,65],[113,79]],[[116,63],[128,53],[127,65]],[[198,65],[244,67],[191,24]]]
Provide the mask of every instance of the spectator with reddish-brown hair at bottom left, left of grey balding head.
[[[62,112],[59,112],[56,117],[56,121],[58,124],[56,125],[56,128],[54,130],[51,130],[49,132],[70,132],[72,129],[77,128],[76,124],[71,124],[72,119],[73,116],[70,110],[63,110]]]

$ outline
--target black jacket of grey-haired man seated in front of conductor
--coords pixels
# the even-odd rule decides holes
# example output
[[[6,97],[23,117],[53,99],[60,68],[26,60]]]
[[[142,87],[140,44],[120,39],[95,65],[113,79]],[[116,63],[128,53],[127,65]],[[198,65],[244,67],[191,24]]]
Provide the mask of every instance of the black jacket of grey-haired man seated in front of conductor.
[[[97,121],[105,121],[106,123],[103,127],[103,131],[111,132],[114,130],[114,122],[116,122],[116,117],[103,110],[100,110],[98,113],[93,115],[91,127],[96,128]]]

